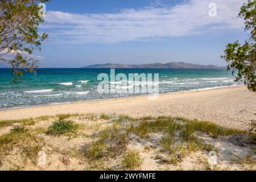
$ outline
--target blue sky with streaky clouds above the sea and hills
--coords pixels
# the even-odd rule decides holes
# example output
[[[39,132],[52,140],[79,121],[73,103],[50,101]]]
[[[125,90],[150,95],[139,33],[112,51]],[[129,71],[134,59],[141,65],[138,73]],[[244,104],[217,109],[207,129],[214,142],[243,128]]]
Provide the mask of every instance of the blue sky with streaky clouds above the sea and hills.
[[[45,68],[171,61],[223,66],[225,46],[248,38],[237,18],[243,2],[51,0],[39,27],[49,38],[35,56]],[[210,3],[216,16],[209,16]]]

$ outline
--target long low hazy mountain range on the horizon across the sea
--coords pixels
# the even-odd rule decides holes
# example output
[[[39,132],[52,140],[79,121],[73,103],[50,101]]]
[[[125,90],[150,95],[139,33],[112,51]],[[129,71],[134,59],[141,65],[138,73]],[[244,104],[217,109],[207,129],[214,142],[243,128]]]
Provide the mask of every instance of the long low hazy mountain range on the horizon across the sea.
[[[178,68],[225,68],[225,67],[218,67],[216,65],[200,65],[200,64],[191,64],[191,63],[183,63],[183,62],[171,62],[171,63],[153,63],[153,64],[93,64],[89,65],[87,67],[82,68],[172,68],[172,69],[178,69]]]

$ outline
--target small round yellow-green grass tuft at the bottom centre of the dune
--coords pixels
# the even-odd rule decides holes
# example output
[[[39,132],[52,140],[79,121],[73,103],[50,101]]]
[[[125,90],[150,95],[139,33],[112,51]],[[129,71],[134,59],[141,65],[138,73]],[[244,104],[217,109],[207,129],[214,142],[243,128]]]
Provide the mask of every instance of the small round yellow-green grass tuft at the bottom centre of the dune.
[[[122,162],[124,167],[133,170],[141,166],[142,158],[141,158],[141,155],[139,155],[139,151],[128,150],[125,156],[123,156]]]

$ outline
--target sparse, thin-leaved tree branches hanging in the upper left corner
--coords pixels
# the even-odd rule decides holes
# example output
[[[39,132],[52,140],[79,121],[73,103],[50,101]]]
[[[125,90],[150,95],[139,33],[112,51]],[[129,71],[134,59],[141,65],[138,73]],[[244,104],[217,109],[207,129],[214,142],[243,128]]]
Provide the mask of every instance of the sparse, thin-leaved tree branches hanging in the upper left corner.
[[[39,35],[38,26],[44,20],[39,16],[38,3],[48,0],[0,1],[0,61],[12,67],[13,81],[22,80],[24,71],[34,72],[38,62],[31,55],[40,50],[48,35]],[[7,59],[6,55],[12,55]]]

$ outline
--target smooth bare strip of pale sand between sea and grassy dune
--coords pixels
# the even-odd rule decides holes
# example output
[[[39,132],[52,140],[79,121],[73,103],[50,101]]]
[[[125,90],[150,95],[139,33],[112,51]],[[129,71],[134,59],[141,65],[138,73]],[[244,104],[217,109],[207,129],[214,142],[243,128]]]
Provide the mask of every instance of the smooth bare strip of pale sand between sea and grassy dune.
[[[168,115],[216,122],[222,126],[246,129],[256,119],[256,94],[245,86],[217,88],[183,93],[160,94],[156,100],[147,96],[75,104],[30,107],[0,111],[0,120],[73,113]]]

